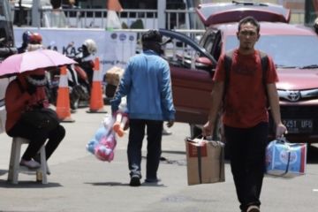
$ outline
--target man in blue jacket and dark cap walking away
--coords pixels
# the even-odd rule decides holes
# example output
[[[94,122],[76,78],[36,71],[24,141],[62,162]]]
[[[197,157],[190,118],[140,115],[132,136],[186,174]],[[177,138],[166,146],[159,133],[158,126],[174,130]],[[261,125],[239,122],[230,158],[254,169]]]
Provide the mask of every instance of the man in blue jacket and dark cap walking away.
[[[129,116],[128,165],[130,186],[140,186],[141,148],[147,126],[147,183],[157,183],[157,170],[161,156],[163,121],[174,123],[175,112],[171,93],[169,64],[160,55],[162,36],[149,30],[141,37],[143,52],[131,57],[124,75],[111,101],[116,112],[123,96],[127,96]]]

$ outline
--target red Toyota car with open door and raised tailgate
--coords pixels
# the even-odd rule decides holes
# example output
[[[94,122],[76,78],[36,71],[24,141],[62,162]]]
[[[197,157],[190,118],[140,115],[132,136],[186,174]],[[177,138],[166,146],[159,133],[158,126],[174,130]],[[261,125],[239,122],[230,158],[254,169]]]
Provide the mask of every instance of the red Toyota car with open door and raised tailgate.
[[[192,136],[200,133],[198,127],[208,120],[216,61],[238,47],[239,19],[253,15],[261,23],[255,48],[267,52],[276,64],[287,139],[318,142],[318,36],[313,29],[288,24],[290,11],[275,4],[201,4],[198,14],[207,27],[199,43],[185,34],[160,29],[165,37],[186,48],[168,57],[176,120],[189,123]],[[272,121],[270,128],[273,135]]]

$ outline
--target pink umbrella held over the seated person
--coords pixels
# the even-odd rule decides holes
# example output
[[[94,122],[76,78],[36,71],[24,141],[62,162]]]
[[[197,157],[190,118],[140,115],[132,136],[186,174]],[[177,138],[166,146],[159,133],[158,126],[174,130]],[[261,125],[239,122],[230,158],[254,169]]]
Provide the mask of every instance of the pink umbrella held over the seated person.
[[[64,64],[76,64],[76,62],[55,50],[28,51],[5,58],[0,64],[0,77]]]

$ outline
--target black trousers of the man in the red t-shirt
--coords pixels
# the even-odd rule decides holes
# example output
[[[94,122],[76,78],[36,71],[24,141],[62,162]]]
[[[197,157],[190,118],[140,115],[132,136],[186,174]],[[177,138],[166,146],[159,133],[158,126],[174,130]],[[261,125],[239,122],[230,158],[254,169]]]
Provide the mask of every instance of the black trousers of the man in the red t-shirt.
[[[264,122],[247,129],[224,126],[231,172],[242,211],[250,205],[261,205],[268,132],[269,124]]]

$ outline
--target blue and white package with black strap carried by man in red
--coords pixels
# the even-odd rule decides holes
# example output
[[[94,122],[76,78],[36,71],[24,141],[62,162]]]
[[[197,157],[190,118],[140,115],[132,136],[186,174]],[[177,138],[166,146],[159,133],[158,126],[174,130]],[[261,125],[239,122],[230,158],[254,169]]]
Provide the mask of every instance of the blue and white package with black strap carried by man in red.
[[[273,140],[266,148],[266,173],[292,178],[304,175],[307,163],[307,144]]]

